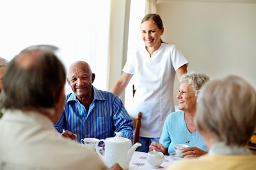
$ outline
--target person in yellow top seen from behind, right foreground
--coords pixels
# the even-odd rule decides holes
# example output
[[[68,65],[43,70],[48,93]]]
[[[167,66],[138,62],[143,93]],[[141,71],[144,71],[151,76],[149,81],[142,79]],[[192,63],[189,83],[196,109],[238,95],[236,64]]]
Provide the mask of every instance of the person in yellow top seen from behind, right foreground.
[[[196,129],[209,153],[173,163],[170,169],[255,169],[246,146],[256,128],[256,92],[243,78],[227,76],[206,83],[198,97]]]

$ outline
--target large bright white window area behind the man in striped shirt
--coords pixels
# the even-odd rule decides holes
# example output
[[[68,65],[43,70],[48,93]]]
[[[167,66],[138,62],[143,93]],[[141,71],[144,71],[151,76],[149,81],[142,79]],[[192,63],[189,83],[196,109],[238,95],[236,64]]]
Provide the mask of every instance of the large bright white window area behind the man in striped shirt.
[[[110,0],[1,1],[0,56],[11,60],[30,45],[55,45],[66,69],[76,60],[88,62],[93,85],[106,90],[109,11]],[[67,83],[65,90],[71,92]]]

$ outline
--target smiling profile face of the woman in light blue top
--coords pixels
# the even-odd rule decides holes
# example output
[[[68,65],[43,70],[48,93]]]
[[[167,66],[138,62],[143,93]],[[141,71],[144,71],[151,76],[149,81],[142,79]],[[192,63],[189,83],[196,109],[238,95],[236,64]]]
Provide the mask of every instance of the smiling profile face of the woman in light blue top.
[[[196,97],[192,85],[188,82],[180,84],[179,94],[177,95],[179,100],[179,110],[193,112],[196,110]]]

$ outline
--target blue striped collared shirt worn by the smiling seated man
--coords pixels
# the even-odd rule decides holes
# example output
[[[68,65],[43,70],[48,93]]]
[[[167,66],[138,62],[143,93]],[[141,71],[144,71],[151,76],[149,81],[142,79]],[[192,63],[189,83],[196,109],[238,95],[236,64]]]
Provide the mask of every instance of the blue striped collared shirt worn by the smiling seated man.
[[[60,120],[54,124],[58,132],[77,134],[76,141],[84,138],[106,139],[122,131],[122,137],[131,139],[132,119],[118,96],[93,87],[93,101],[87,113],[73,92],[67,94]]]

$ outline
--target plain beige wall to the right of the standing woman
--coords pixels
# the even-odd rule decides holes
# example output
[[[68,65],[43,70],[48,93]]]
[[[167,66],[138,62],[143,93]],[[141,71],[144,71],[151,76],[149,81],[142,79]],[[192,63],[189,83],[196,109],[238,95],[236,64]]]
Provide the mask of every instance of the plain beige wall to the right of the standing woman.
[[[188,71],[211,79],[236,74],[256,89],[256,2],[225,2],[159,1],[163,41],[178,46]],[[176,78],[175,96],[178,91]]]

